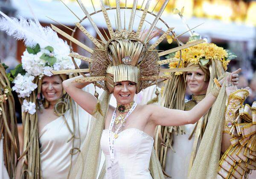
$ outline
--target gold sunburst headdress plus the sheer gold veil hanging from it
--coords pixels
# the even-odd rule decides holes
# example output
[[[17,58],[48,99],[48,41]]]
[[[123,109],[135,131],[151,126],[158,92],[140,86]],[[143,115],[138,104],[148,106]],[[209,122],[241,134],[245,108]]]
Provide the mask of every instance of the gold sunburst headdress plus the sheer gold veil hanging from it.
[[[180,45],[179,40],[175,36],[175,33],[172,31],[173,28],[170,28],[161,18],[165,7],[167,6],[169,0],[164,0],[163,5],[160,7],[160,10],[157,14],[149,12],[149,6],[151,0],[147,0],[145,6],[144,1],[140,8],[137,8],[138,0],[133,1],[132,7],[120,7],[120,0],[116,0],[116,7],[112,8],[109,5],[109,8],[105,8],[103,0],[100,0],[101,9],[99,11],[95,10],[93,5],[94,12],[89,13],[85,8],[81,0],[77,0],[82,11],[86,15],[84,18],[80,19],[73,11],[71,11],[78,19],[79,22],[75,23],[76,27],[73,29],[71,35],[61,31],[61,29],[52,25],[52,29],[66,37],[70,40],[70,46],[73,43],[79,45],[81,48],[86,50],[91,54],[90,57],[84,57],[80,54],[70,51],[69,56],[73,58],[73,62],[76,66],[76,70],[69,71],[52,71],[53,74],[66,74],[66,73],[76,73],[84,72],[90,73],[90,77],[87,77],[85,74],[82,74],[83,77],[76,79],[74,82],[93,82],[94,85],[103,88],[107,93],[102,95],[98,104],[101,103],[102,110],[95,111],[93,117],[96,120],[92,120],[91,129],[87,135],[87,139],[84,142],[84,146],[81,150],[80,156],[76,165],[71,173],[72,178],[76,179],[87,179],[87,178],[96,178],[96,174],[99,167],[99,142],[104,128],[105,114],[108,110],[108,99],[109,94],[113,92],[114,82],[120,81],[131,81],[136,83],[136,93],[139,93],[142,89],[147,88],[151,85],[161,82],[172,77],[173,72],[183,72],[183,71],[194,71],[197,68],[175,68],[175,69],[161,69],[160,65],[168,64],[171,62],[180,61],[177,58],[170,58],[166,60],[160,60],[161,56],[167,55],[172,52],[179,51],[185,48],[189,48],[193,45],[203,43],[204,40],[196,40],[192,43],[187,43],[185,45]],[[91,1],[93,2],[93,1]],[[125,1],[126,2],[126,1]],[[65,5],[67,6],[67,5]],[[144,9],[142,7],[144,6]],[[69,8],[68,8],[69,9]],[[116,10],[116,31],[113,31],[111,25],[111,20],[108,16],[109,10]],[[131,16],[129,20],[128,29],[122,28],[121,22],[121,10],[131,11]],[[136,29],[133,31],[134,18],[137,11],[142,11],[142,16],[140,18],[140,23]],[[96,26],[96,23],[93,21],[93,15],[102,12],[103,17],[110,34],[110,38],[105,32],[105,38],[99,28]],[[145,22],[145,17],[147,14],[150,14],[154,17],[152,24],[146,34],[145,39],[142,39],[140,36],[141,29]],[[125,19],[125,18],[124,18]],[[99,39],[93,37],[87,30],[84,28],[81,23],[84,20],[89,20],[91,26],[96,31]],[[150,34],[155,28],[158,21],[161,21],[167,28],[167,30],[157,39],[154,44],[149,44]],[[96,46],[96,48],[89,48],[87,45],[79,42],[74,38],[74,34],[77,30],[82,31]],[[156,50],[157,45],[159,45],[167,35],[171,34],[174,37],[174,40],[177,42],[177,47],[172,48],[166,51],[161,51],[158,53]],[[72,49],[72,48],[70,48]],[[79,69],[78,65],[74,61],[74,58],[84,60],[89,63],[88,69]],[[170,72],[169,75],[160,74],[163,72]],[[156,94],[159,94],[159,91],[156,91]],[[98,94],[95,93],[95,97],[98,98]],[[154,100],[152,100],[154,101]],[[96,109],[99,109],[96,107]],[[99,114],[100,113],[100,114]],[[103,170],[104,171],[104,170]],[[153,150],[151,155],[150,162],[150,171],[154,179],[163,179],[162,168],[157,159],[156,153]],[[104,172],[103,172],[104,173]],[[102,176],[102,175],[101,175]]]

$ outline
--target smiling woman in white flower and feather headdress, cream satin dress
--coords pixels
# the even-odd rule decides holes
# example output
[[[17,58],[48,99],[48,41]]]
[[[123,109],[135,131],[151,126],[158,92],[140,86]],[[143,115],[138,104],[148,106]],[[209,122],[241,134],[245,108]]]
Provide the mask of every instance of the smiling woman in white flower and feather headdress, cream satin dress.
[[[23,153],[16,178],[68,178],[84,142],[90,115],[69,97],[62,82],[76,74],[52,76],[51,70],[75,69],[67,42],[38,20],[0,20],[0,29],[23,39],[22,64],[11,73],[13,91],[22,104]],[[76,60],[80,65],[81,61]],[[93,86],[84,88],[93,91]]]

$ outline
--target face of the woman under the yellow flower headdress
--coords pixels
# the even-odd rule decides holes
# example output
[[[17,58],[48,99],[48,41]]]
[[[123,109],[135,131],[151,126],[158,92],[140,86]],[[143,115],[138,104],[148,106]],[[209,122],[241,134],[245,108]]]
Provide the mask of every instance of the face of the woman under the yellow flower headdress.
[[[205,73],[201,68],[198,68],[197,71],[187,72],[187,86],[189,87],[189,90],[192,92],[192,94],[206,94],[209,81],[205,82],[204,77]]]

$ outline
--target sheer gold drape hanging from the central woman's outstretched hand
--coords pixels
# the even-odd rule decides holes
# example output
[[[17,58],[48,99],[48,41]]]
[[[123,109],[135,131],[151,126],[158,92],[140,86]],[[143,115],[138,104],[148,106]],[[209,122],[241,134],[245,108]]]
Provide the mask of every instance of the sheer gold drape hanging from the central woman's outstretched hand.
[[[225,73],[221,78],[227,76],[227,74]],[[221,78],[218,80],[221,80]],[[223,85],[212,106],[203,138],[189,173],[189,179],[215,179],[217,176],[226,99],[225,86]]]

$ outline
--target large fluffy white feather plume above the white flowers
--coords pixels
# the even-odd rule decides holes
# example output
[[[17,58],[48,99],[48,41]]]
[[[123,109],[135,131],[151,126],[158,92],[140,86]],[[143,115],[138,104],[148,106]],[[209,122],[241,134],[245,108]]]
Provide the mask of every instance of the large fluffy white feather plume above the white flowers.
[[[49,26],[42,27],[40,23],[24,17],[10,18],[2,11],[0,18],[0,30],[6,31],[17,40],[23,40],[26,46],[35,47],[38,43],[41,48],[48,45],[54,48],[55,53],[68,54],[67,42],[58,37],[57,33]]]

